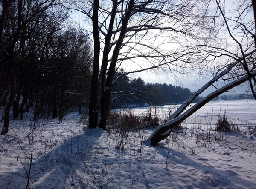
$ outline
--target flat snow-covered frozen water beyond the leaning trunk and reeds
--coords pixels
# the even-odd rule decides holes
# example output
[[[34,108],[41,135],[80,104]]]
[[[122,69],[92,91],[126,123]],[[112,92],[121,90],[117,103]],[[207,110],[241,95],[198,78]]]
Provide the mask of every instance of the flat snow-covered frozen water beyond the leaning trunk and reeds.
[[[194,104],[192,104],[193,106]],[[180,105],[178,105],[180,106]],[[152,112],[158,115],[168,115],[169,109],[173,111],[174,105],[151,107]],[[189,107],[187,108],[189,109]],[[145,114],[148,107],[140,107],[133,109],[137,114]],[[227,101],[211,101],[204,105],[201,109],[186,119],[186,123],[192,124],[215,124],[218,116],[224,115],[236,124],[256,125],[256,102],[255,100],[227,100]]]

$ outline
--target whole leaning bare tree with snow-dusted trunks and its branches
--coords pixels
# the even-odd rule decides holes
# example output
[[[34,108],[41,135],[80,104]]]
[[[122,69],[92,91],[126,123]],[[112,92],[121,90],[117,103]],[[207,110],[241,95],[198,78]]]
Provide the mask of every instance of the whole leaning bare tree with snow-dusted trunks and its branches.
[[[242,4],[236,2],[233,5],[236,7],[236,9],[233,9],[236,10],[235,13],[233,10],[225,10],[222,3],[221,1],[215,1],[216,11],[219,12],[219,17],[215,20],[215,23],[223,23],[221,25],[221,28],[223,28],[222,34],[227,37],[226,44],[228,44],[228,47],[224,49],[220,46],[201,46],[207,48],[206,53],[212,57],[228,57],[228,59],[224,64],[218,64],[218,66],[215,67],[218,70],[213,72],[215,75],[212,80],[192,94],[192,96],[169,117],[166,123],[163,123],[154,130],[149,137],[152,145],[156,145],[159,141],[168,137],[177,124],[186,120],[187,117],[192,115],[207,102],[241,83],[248,81],[251,92],[256,100],[256,49],[254,41],[255,34],[253,34],[255,31],[255,21],[250,17],[252,14],[250,1],[247,1],[247,4],[244,2]],[[225,46],[225,43],[223,46]],[[216,59],[214,58],[212,60]],[[216,91],[207,95],[207,97],[204,97],[204,99],[200,100],[192,108],[185,111],[189,104],[192,103],[192,100],[209,86],[215,86]],[[181,114],[183,111],[185,112]]]

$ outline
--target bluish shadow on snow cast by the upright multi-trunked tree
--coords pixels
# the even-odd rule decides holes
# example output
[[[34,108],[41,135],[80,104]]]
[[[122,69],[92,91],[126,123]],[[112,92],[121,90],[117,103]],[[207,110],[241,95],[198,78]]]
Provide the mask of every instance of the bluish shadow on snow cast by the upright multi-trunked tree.
[[[74,183],[78,182],[77,180],[74,181],[73,178],[76,175],[76,170],[81,166],[87,167],[88,165],[85,165],[88,162],[87,160],[97,158],[92,149],[95,148],[95,145],[100,146],[98,139],[104,132],[99,128],[89,129],[84,127],[83,130],[84,133],[81,135],[65,140],[64,143],[61,143],[49,153],[45,153],[32,161],[30,172],[31,188],[71,188]],[[25,164],[24,160],[22,161],[23,165],[28,169],[29,164]],[[84,175],[86,174],[90,174],[90,171],[84,168]],[[0,184],[3,184],[3,188],[26,188],[27,175],[24,169],[18,169],[15,173],[5,173],[5,175],[15,175],[15,178],[12,178],[11,182],[10,180],[1,179]],[[80,175],[83,174],[80,173]],[[81,180],[83,178],[78,179]],[[35,181],[36,183],[34,183]],[[64,186],[65,184],[68,186]]]

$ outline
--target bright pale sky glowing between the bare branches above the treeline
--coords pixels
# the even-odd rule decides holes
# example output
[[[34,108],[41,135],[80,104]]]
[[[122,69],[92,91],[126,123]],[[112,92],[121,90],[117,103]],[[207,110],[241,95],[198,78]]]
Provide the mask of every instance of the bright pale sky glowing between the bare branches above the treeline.
[[[175,2],[175,1],[174,1]],[[192,1],[191,1],[192,2]],[[250,2],[250,1],[248,1]],[[236,37],[239,39],[239,41],[243,40],[243,33],[241,33],[240,29],[237,28],[234,25],[235,16],[239,16],[239,9],[245,8],[245,6],[248,4],[248,2],[242,3],[237,2],[231,2],[226,1],[223,6],[225,6],[225,15],[226,17],[230,17],[231,19],[228,19],[228,23],[230,26],[234,26],[234,28],[231,28],[233,33],[236,34]],[[86,11],[89,9],[89,4],[87,4],[84,8],[84,4],[79,4],[78,2],[75,2],[76,5],[79,5],[83,11]],[[108,26],[109,19],[108,12],[111,11],[111,6],[108,4],[108,1],[100,2],[102,9],[106,9],[104,13],[99,15],[99,18],[101,20],[105,21],[105,26]],[[141,69],[145,69],[148,67],[151,67],[153,64],[155,65],[156,62],[160,63],[162,60],[157,60],[156,58],[147,59],[143,57],[137,57],[136,55],[143,53],[143,55],[146,54],[152,54],[154,52],[152,49],[158,49],[159,52],[162,52],[162,54],[171,54],[171,53],[177,53],[183,52],[184,49],[187,49],[188,46],[189,50],[192,52],[194,51],[195,45],[204,45],[204,56],[195,56],[193,59],[190,57],[190,62],[186,60],[186,65],[179,63],[179,61],[175,61],[175,64],[169,64],[168,66],[161,66],[158,69],[150,69],[143,72],[137,72],[134,73],[132,77],[142,77],[143,80],[145,80],[147,83],[169,83],[172,85],[181,85],[183,87],[189,88],[192,92],[195,92],[198,90],[201,86],[204,85],[204,83],[207,80],[210,80],[212,76],[214,76],[215,72],[218,71],[219,68],[224,66],[228,61],[232,60],[229,59],[230,55],[233,57],[234,54],[236,54],[237,44],[233,41],[233,39],[230,37],[229,33],[227,32],[227,28],[223,25],[223,20],[221,18],[221,15],[218,13],[216,14],[217,4],[212,1],[194,1],[196,6],[196,10],[198,10],[197,14],[192,16],[192,19],[188,20],[192,23],[195,23],[195,19],[198,18],[198,15],[202,11],[206,11],[204,13],[204,19],[203,22],[207,25],[207,27],[204,28],[201,32],[196,32],[196,30],[191,30],[189,34],[193,34],[193,38],[189,35],[186,35],[184,37],[183,34],[179,32],[175,32],[173,30],[157,30],[152,29],[150,31],[140,31],[137,32],[136,36],[132,36],[129,38],[125,38],[123,42],[122,49],[120,49],[120,61],[119,64],[116,66],[117,68],[122,68],[125,70],[125,72],[133,72]],[[241,4],[241,5],[240,5]],[[77,8],[77,7],[76,7]],[[78,9],[78,8],[77,8]],[[91,9],[91,8],[90,8]],[[249,9],[248,9],[249,10]],[[108,12],[107,12],[108,11]],[[121,13],[120,13],[121,14]],[[90,22],[90,19],[83,13],[73,10],[73,19],[76,20],[81,24],[81,28],[85,29],[89,33],[92,32],[92,24]],[[103,16],[105,15],[105,16]],[[144,12],[143,15],[146,15]],[[133,26],[134,23],[139,23],[142,20],[143,17],[134,16],[133,19],[131,19],[131,22],[129,23],[130,26]],[[251,23],[251,18],[253,18],[253,11],[249,10],[247,11],[240,20],[247,21],[247,28],[250,28],[250,30],[253,30],[253,25],[249,26],[249,23]],[[119,20],[120,21],[120,20]],[[178,26],[178,22],[175,22],[174,20],[160,20],[161,26],[163,27],[172,27],[175,29],[180,29],[182,26]],[[117,23],[117,21],[116,21]],[[192,24],[191,23],[191,24]],[[185,23],[184,23],[185,25]],[[249,26],[249,27],[248,27]],[[104,30],[106,27],[102,27],[102,32],[106,33],[106,30]],[[191,28],[190,28],[191,29]],[[147,32],[146,36],[145,33]],[[101,32],[99,32],[102,39],[105,37],[102,35]],[[119,34],[116,34],[116,37],[118,37]],[[141,37],[143,37],[141,39]],[[92,39],[93,40],[93,39]],[[201,40],[201,41],[200,41]],[[204,40],[204,43],[202,43],[202,40]],[[253,40],[253,39],[252,39]],[[250,43],[249,41],[247,43]],[[150,46],[151,48],[148,48],[147,46]],[[215,50],[215,47],[218,47],[218,50]],[[104,43],[101,43],[101,51],[100,51],[100,65],[102,62],[102,51],[104,48]],[[151,50],[150,50],[151,49]],[[207,52],[208,51],[208,52]],[[228,53],[227,53],[228,52]],[[109,54],[113,53],[113,48],[110,51]],[[197,52],[199,53],[199,52]],[[207,59],[205,59],[206,54]],[[228,56],[223,56],[224,54],[227,54]],[[129,58],[129,57],[134,58]],[[125,58],[122,58],[125,57]],[[122,59],[122,60],[121,60]],[[205,60],[204,60],[205,59]],[[197,66],[196,64],[200,63],[200,66]],[[192,66],[193,65],[193,66]],[[183,69],[180,69],[183,68]],[[235,91],[244,91],[245,89],[237,88]],[[207,92],[208,91],[208,92]],[[215,91],[215,88],[212,86],[211,89],[207,89],[205,92],[203,92],[203,96],[209,94],[210,92]]]

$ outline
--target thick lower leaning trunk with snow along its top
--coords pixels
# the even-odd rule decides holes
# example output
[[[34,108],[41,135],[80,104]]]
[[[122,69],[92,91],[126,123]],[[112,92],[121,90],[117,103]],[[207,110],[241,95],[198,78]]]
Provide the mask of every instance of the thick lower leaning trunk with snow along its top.
[[[256,76],[256,71],[251,72],[251,75]],[[202,106],[204,106],[210,100],[214,99],[215,97],[218,97],[220,94],[240,85],[241,83],[244,83],[245,81],[247,81],[249,79],[250,79],[250,77],[248,75],[245,75],[244,77],[241,77],[238,80],[227,84],[226,86],[224,86],[224,87],[216,90],[215,92],[212,92],[211,94],[207,95],[206,97],[204,97],[202,100],[200,100],[198,103],[196,103],[192,108],[190,108],[189,110],[184,112],[182,115],[158,126],[154,130],[154,132],[151,134],[151,136],[148,138],[148,140],[151,140],[151,145],[155,146],[161,140],[166,139],[172,132],[172,129],[175,129],[175,127],[177,127],[178,124],[180,124],[181,122],[186,120],[186,118],[188,118],[190,115],[195,113],[198,109],[200,109]],[[201,90],[201,89],[199,89],[199,90]]]

